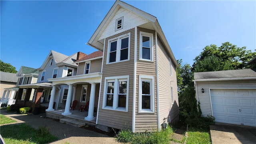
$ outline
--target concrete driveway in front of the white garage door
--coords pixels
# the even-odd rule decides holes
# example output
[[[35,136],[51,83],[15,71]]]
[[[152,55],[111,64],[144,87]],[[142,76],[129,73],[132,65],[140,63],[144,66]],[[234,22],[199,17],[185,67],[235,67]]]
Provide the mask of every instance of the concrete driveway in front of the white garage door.
[[[210,126],[212,144],[256,144],[256,127],[216,123]]]

